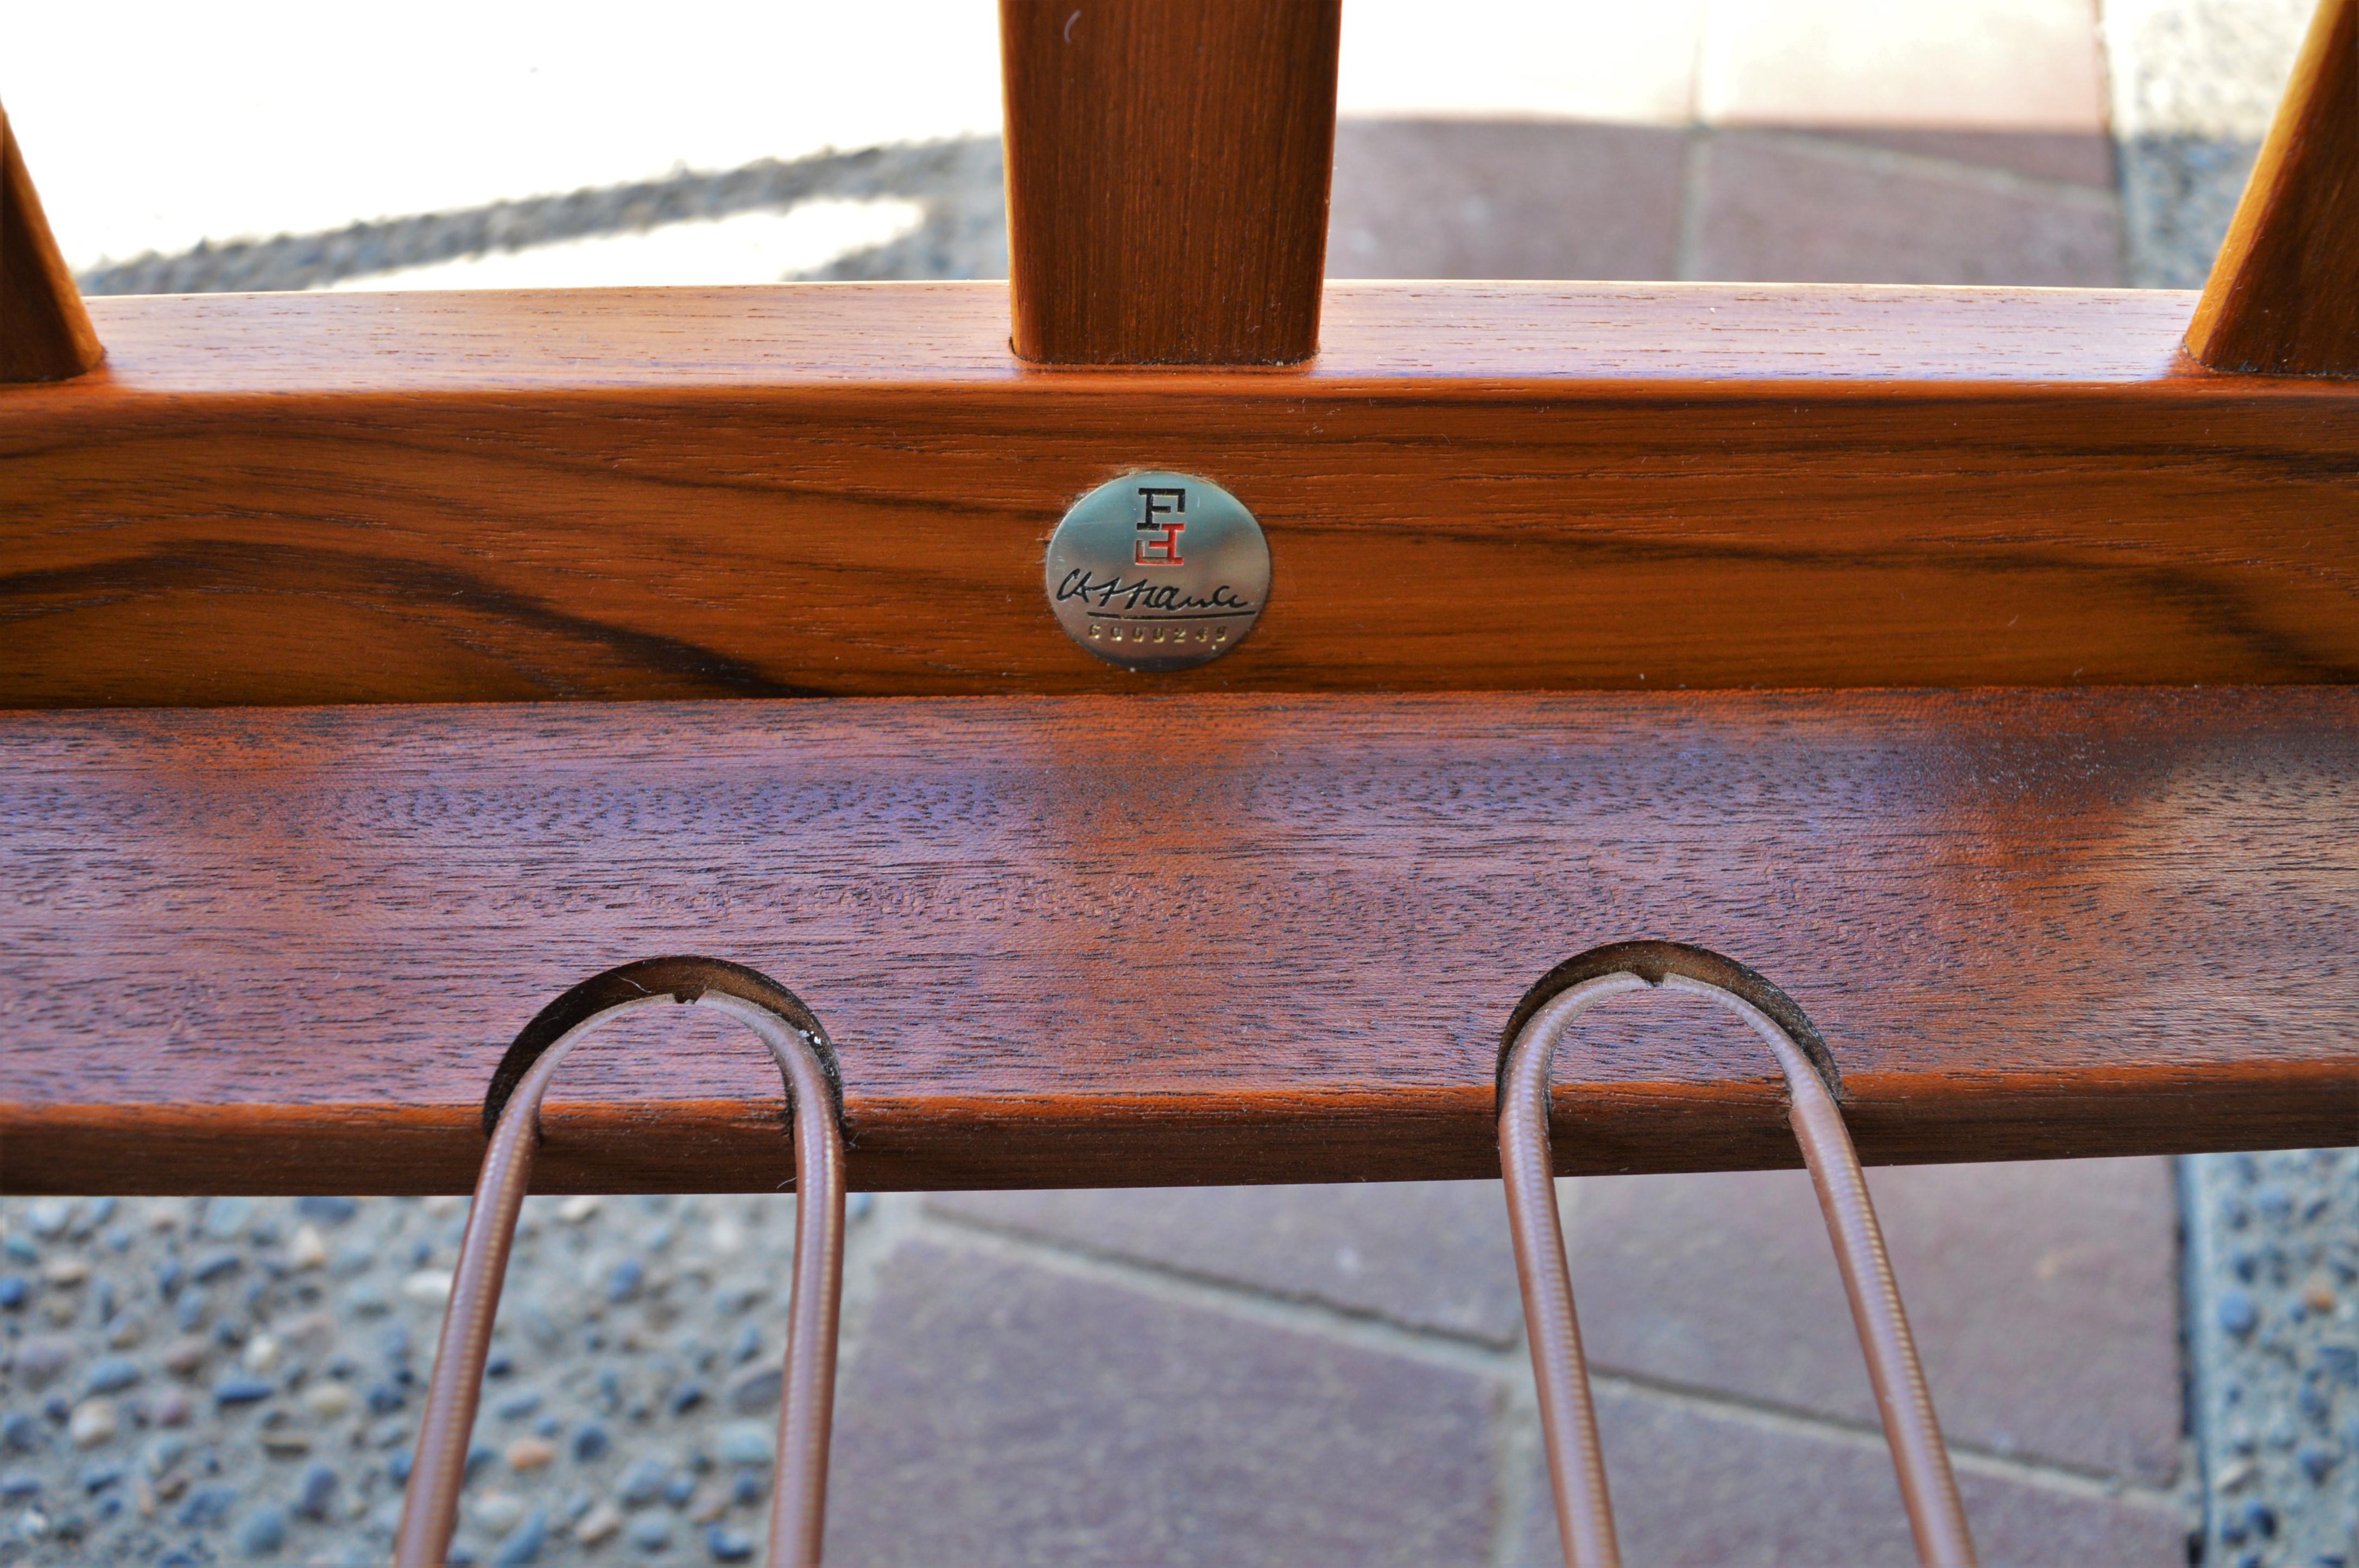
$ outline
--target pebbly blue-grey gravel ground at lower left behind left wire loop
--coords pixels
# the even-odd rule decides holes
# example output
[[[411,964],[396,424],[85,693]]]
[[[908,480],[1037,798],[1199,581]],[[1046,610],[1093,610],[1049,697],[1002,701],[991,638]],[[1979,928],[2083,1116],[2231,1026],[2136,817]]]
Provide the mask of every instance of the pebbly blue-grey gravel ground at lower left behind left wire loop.
[[[385,1561],[465,1221],[0,1200],[0,1563]],[[793,1226],[793,1198],[528,1200],[451,1561],[755,1561]]]

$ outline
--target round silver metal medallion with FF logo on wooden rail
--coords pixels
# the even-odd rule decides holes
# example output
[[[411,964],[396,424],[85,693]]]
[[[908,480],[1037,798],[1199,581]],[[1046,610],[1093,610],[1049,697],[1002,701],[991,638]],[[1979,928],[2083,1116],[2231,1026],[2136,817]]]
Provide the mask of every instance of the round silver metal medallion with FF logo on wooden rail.
[[[1262,618],[1269,540],[1246,502],[1194,474],[1123,474],[1064,514],[1047,601],[1090,653],[1125,670],[1215,660]]]

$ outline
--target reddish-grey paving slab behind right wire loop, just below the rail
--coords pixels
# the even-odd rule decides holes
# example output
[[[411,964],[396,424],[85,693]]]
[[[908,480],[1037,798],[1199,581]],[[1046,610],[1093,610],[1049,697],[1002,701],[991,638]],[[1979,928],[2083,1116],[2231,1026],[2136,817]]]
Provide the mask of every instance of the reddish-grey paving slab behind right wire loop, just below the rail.
[[[2170,1160],[1868,1172],[1953,1443],[2170,1485],[2180,1471]],[[1599,1370],[1875,1422],[1809,1177],[1573,1181]]]

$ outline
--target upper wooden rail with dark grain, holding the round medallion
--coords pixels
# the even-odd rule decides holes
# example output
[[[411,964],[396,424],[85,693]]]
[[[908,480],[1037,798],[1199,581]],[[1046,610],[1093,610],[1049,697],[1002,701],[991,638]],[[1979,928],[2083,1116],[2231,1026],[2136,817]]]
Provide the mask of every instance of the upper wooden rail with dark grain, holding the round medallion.
[[[2347,681],[2359,387],[2189,295],[1352,285],[1293,370],[1033,370],[993,285],[101,299],[0,389],[0,705]],[[1142,677],[1040,552],[1220,479]]]

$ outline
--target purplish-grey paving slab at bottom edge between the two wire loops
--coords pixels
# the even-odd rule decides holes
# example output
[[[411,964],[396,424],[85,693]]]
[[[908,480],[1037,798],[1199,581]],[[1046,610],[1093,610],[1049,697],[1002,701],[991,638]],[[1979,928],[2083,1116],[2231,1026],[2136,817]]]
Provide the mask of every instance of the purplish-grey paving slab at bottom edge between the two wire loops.
[[[1496,1384],[934,1240],[842,1377],[840,1563],[1479,1563]]]

